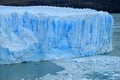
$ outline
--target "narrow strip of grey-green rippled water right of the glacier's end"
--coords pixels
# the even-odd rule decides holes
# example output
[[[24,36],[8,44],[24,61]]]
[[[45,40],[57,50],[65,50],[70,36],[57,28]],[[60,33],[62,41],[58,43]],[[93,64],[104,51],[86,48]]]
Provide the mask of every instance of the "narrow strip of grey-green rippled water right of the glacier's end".
[[[112,14],[112,16],[114,17],[113,51],[108,55],[120,56],[120,14]]]

